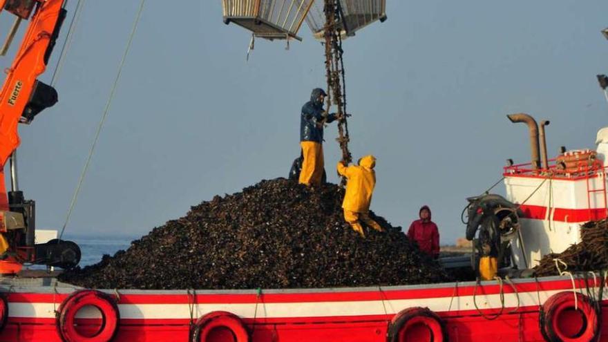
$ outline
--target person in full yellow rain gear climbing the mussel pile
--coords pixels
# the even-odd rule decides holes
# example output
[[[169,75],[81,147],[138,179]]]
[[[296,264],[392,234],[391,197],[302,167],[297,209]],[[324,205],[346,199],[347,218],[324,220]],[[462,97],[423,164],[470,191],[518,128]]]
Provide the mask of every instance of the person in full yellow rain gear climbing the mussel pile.
[[[369,215],[372,193],[376,186],[376,158],[366,155],[359,160],[359,165],[348,166],[341,160],[338,163],[338,173],[348,179],[346,193],[342,202],[344,220],[348,222],[354,231],[365,238],[361,222],[377,231],[384,231],[378,222],[372,220]]]

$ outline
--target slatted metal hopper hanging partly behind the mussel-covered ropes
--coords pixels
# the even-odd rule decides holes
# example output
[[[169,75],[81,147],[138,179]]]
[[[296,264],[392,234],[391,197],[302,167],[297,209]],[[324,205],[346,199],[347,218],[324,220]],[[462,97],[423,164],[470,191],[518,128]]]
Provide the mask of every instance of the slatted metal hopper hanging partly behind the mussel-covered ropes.
[[[325,27],[325,13],[323,0],[314,0],[306,23],[316,39],[323,40]],[[341,31],[343,39],[354,36],[354,32],[361,30],[374,21],[386,20],[386,0],[339,0],[342,19]]]

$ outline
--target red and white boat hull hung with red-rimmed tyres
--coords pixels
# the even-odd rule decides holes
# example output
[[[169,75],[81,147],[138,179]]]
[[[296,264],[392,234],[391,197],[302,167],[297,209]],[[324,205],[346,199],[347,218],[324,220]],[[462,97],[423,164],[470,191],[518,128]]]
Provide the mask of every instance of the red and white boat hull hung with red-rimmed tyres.
[[[575,283],[578,292],[597,296],[594,285],[599,282],[600,278],[590,278]],[[6,288],[9,317],[0,341],[62,341],[56,312],[76,290],[63,286]],[[243,321],[252,342],[386,342],[395,315],[411,307],[428,307],[435,312],[449,341],[545,341],[539,308],[560,292],[573,297],[573,284],[569,277],[551,277],[516,280],[514,286],[505,283],[502,287],[496,282],[478,286],[469,282],[261,292],[103,292],[116,301],[120,312],[112,341],[191,341],[191,323],[210,312],[229,312]],[[608,302],[602,301],[606,314],[600,317],[607,317],[607,310]],[[491,319],[496,314],[499,316]],[[84,307],[75,318],[84,335],[99,330],[98,310]],[[558,323],[585,324],[571,318],[558,317],[562,320]],[[599,324],[605,323],[604,319]],[[577,329],[580,327],[566,327],[567,331]],[[419,341],[427,341],[428,330],[419,334]],[[434,341],[439,340],[435,337]],[[608,337],[600,341],[608,341]]]

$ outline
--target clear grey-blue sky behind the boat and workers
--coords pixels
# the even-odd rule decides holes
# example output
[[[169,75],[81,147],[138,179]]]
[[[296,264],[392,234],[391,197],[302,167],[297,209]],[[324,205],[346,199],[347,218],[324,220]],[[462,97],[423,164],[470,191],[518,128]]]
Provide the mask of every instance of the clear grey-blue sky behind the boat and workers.
[[[300,108],[325,88],[307,26],[290,50],[258,39],[246,62],[250,35],[222,23],[220,1],[175,3],[146,1],[68,234],[144,235],[216,194],[286,176],[299,153]],[[138,5],[86,2],[59,103],[20,129],[20,185],[39,228],[64,223]],[[510,113],[551,120],[549,155],[593,147],[608,122],[595,79],[608,73],[607,12],[599,0],[389,0],[388,21],[345,41],[350,148],[378,159],[372,210],[407,227],[430,205],[441,243],[464,236],[465,198],[499,180],[507,158],[529,160]],[[336,182],[336,127],[325,135]]]

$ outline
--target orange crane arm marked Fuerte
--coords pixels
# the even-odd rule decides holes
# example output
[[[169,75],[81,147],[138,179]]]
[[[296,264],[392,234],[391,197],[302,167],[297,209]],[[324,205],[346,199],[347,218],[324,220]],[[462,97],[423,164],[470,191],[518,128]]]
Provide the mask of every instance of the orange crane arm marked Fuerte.
[[[44,108],[57,102],[57,92],[39,82],[66,17],[65,0],[0,0],[0,12],[32,18],[0,91],[0,211],[8,210],[4,166],[19,146],[19,122],[30,123]],[[8,40],[14,32],[9,34]]]

